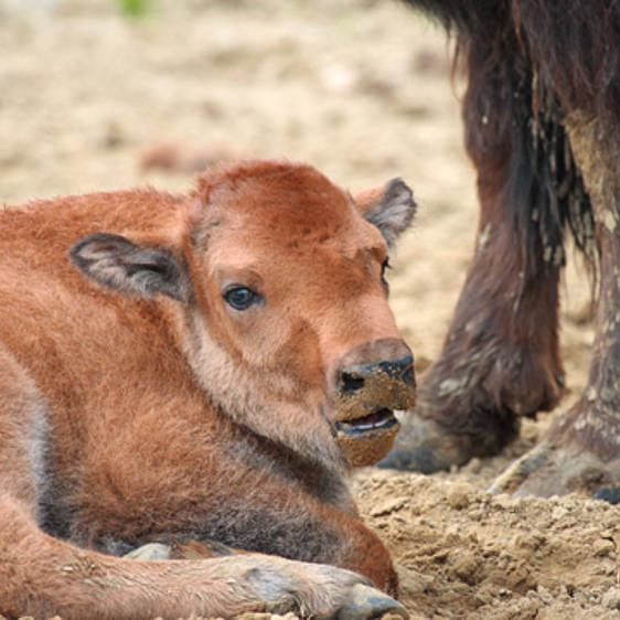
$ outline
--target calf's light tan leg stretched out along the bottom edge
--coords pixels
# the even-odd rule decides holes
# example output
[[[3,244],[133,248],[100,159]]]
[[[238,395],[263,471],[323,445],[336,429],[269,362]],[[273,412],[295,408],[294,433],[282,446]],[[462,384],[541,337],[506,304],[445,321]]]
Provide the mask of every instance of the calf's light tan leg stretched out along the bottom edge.
[[[246,611],[376,618],[403,607],[354,573],[258,554],[145,562],[84,550],[39,531],[0,495],[0,614],[232,617]]]

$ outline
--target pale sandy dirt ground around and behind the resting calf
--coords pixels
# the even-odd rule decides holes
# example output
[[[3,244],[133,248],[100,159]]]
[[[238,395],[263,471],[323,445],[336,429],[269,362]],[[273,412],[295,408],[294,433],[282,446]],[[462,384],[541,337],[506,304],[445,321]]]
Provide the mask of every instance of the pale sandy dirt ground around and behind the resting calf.
[[[419,216],[392,260],[392,303],[421,372],[477,222],[447,52],[438,29],[389,0],[159,0],[139,20],[111,0],[0,0],[0,203],[188,189],[192,168],[220,157],[303,160],[351,190],[402,175]],[[617,507],[484,492],[585,385],[589,286],[571,258],[558,410],[451,472],[355,474],[413,618],[620,618]]]

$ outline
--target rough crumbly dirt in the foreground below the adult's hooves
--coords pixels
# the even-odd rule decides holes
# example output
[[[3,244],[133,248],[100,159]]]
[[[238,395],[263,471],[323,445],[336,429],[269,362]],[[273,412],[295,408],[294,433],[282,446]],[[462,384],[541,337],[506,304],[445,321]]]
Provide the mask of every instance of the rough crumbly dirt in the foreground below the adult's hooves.
[[[393,550],[413,618],[619,617],[617,507],[491,496],[466,477],[357,477],[364,519]]]

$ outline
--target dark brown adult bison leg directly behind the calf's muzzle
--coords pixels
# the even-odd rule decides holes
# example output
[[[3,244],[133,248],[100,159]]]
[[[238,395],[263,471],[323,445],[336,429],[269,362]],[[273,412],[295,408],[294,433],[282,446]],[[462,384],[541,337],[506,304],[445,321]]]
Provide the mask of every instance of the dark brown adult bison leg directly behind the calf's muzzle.
[[[475,254],[441,355],[384,467],[428,473],[495,453],[517,434],[519,416],[549,409],[562,392],[558,277],[571,158],[562,126],[532,116],[527,68],[489,57],[469,51],[463,104],[481,206]]]

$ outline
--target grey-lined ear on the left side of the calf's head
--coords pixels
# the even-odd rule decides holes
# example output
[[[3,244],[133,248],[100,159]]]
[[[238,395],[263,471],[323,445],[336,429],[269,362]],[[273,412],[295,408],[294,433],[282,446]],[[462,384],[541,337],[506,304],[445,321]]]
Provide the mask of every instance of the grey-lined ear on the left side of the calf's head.
[[[168,248],[96,233],[77,242],[70,256],[86,276],[110,289],[146,298],[162,293],[178,301],[189,299],[186,269]]]

